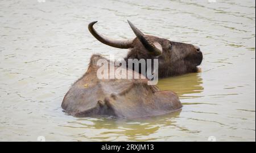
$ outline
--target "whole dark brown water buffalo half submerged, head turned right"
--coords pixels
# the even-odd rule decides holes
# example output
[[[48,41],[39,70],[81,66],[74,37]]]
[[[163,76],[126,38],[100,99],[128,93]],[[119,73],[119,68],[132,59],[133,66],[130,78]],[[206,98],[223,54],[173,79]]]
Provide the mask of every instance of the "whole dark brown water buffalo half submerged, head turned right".
[[[88,28],[97,40],[115,48],[131,49],[125,61],[128,59],[159,59],[159,77],[196,72],[197,65],[200,65],[203,59],[199,47],[155,36],[146,36],[131,22],[129,22],[130,27],[137,37],[125,41],[113,40],[100,35],[93,28],[95,23],[90,23]],[[138,118],[181,109],[180,100],[174,92],[159,91],[158,87],[149,86],[147,78],[99,79],[97,71],[100,66],[97,62],[100,59],[105,58],[98,54],[90,58],[86,73],[72,85],[65,95],[61,107],[68,114],[81,117]],[[109,65],[112,63],[112,61],[107,61]],[[121,66],[115,66],[114,70],[120,68],[131,72],[132,75],[142,75],[140,71]],[[108,74],[112,73],[114,72],[108,71]]]

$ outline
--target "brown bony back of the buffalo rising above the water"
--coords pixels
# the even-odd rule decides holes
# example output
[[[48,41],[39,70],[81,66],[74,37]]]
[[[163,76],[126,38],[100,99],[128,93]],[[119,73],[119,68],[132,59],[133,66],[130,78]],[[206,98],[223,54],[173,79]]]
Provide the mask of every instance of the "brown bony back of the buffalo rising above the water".
[[[73,116],[137,118],[164,114],[182,107],[174,92],[148,86],[147,79],[98,79],[100,67],[96,63],[101,58],[93,55],[84,76],[67,92],[61,105],[65,112]]]

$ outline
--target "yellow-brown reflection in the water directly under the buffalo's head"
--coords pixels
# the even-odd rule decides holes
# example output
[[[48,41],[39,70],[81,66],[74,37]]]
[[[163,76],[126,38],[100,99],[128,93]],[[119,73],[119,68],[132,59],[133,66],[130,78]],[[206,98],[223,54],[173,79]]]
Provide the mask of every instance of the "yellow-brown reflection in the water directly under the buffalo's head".
[[[200,93],[204,90],[203,79],[200,73],[191,73],[171,78],[159,79],[160,90],[174,91],[180,99],[193,98],[191,94]]]

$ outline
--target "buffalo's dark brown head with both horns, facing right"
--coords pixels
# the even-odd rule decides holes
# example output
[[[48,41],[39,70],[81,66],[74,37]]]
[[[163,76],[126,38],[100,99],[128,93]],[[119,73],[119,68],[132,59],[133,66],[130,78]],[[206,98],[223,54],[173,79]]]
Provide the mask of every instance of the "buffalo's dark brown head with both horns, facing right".
[[[125,58],[126,62],[128,59],[157,58],[160,78],[197,72],[197,66],[203,59],[203,54],[198,46],[144,35],[129,20],[128,23],[136,35],[135,39],[131,40],[114,40],[102,36],[93,28],[95,23],[90,23],[88,28],[98,41],[115,48],[130,49]]]

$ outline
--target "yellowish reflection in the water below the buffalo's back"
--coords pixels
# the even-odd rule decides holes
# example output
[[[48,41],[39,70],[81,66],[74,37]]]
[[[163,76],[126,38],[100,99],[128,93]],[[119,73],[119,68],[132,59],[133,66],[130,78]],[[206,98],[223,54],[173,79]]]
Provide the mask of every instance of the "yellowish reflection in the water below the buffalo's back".
[[[92,141],[97,141],[97,139],[107,141],[110,135],[115,137],[115,139],[118,139],[118,137],[121,137],[122,135],[126,135],[126,137],[129,137],[129,141],[154,141],[157,138],[148,139],[147,136],[154,134],[159,130],[159,128],[168,126],[188,131],[188,129],[176,125],[175,118],[179,117],[180,112],[181,110],[174,113],[164,114],[162,116],[135,118],[133,120],[105,117],[77,118],[77,120],[68,122],[68,127],[100,130],[101,132],[94,137],[88,137],[88,133],[86,132],[79,135],[79,137],[85,137],[86,139],[90,139]],[[163,138],[164,137],[168,136],[163,135]]]

